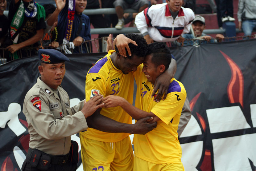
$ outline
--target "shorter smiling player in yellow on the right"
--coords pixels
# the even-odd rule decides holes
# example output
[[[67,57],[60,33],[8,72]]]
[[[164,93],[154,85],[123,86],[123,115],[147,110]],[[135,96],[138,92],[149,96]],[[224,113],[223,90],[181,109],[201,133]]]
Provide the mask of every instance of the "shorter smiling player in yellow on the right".
[[[136,107],[119,96],[103,99],[106,108],[120,106],[136,120],[150,116],[154,118],[152,122],[157,121],[157,127],[151,132],[134,134],[134,171],[184,170],[177,129],[186,90],[181,82],[172,78],[164,101],[157,103],[151,98],[155,79],[168,68],[170,62],[171,52],[166,44],[150,44],[143,64],[133,72],[137,84]]]

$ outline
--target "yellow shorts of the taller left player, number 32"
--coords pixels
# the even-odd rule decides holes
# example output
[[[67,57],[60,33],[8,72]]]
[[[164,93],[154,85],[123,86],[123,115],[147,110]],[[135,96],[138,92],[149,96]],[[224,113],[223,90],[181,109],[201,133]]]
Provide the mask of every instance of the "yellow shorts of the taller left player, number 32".
[[[84,171],[132,171],[134,154],[130,137],[118,142],[102,142],[80,134]]]

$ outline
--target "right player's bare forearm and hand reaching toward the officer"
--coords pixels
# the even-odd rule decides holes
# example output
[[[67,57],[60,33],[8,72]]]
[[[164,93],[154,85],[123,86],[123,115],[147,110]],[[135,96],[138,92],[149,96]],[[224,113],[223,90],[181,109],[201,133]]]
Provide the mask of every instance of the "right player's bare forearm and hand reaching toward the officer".
[[[121,106],[131,117],[133,117],[136,120],[139,120],[145,117],[153,117],[153,120],[149,121],[148,123],[157,122],[160,120],[160,118],[157,117],[154,113],[141,110],[131,105],[126,99],[120,96],[109,95],[103,98],[101,102],[105,104],[106,108]]]

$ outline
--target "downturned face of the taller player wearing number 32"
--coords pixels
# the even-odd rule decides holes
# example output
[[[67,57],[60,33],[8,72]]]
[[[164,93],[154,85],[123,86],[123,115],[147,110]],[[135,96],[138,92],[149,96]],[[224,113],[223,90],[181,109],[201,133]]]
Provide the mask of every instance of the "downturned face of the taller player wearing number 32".
[[[143,57],[138,57],[136,55],[133,55],[131,59],[121,56],[120,60],[118,60],[118,66],[124,74],[129,74],[131,71],[136,71],[143,60]]]

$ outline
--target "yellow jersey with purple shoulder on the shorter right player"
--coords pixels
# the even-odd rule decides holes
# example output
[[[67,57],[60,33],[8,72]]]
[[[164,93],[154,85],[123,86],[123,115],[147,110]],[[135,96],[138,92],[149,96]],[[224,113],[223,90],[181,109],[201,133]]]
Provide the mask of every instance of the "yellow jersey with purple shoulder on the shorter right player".
[[[172,78],[166,99],[157,103],[151,98],[154,85],[147,80],[142,68],[143,64],[133,72],[137,84],[135,106],[154,113],[160,120],[157,127],[145,135],[134,134],[134,155],[156,164],[181,161],[177,129],[187,95],[186,90],[181,82]]]

